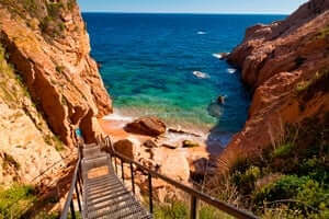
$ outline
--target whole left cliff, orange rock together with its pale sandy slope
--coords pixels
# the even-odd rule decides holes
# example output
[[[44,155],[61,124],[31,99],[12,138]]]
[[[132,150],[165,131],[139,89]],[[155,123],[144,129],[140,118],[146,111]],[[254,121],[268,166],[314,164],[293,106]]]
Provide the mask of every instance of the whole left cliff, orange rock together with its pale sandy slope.
[[[31,182],[101,134],[111,99],[75,0],[0,0],[0,183]]]

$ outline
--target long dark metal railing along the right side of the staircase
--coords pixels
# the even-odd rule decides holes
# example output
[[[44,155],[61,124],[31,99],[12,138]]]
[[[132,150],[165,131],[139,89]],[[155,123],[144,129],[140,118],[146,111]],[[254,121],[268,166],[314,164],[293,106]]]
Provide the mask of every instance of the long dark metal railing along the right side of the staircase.
[[[191,196],[191,206],[190,206],[190,218],[191,219],[196,219],[197,218],[197,206],[198,206],[198,201],[202,200],[230,216],[234,216],[236,218],[239,219],[256,219],[258,218],[257,216],[254,216],[251,212],[248,212],[246,210],[241,210],[236,208],[232,205],[229,205],[227,203],[220,201],[207,194],[204,194],[202,192],[198,192],[192,187],[189,187],[182,183],[179,183],[170,177],[167,177],[166,175],[162,175],[154,170],[150,170],[149,168],[146,168],[145,165],[143,165],[141,163],[132,160],[131,158],[127,158],[121,153],[118,153],[117,151],[115,151],[112,141],[110,139],[110,137],[106,137],[105,139],[101,139],[100,143],[103,145],[103,147],[106,148],[106,151],[110,153],[110,158],[111,161],[113,162],[114,160],[114,166],[115,166],[115,172],[117,174],[117,159],[121,161],[121,173],[122,173],[122,180],[123,182],[125,181],[125,174],[124,174],[124,163],[127,163],[129,165],[131,169],[131,178],[132,178],[132,189],[133,193],[135,194],[135,173],[137,169],[139,169],[138,171],[143,171],[146,172],[148,175],[148,189],[149,189],[149,211],[150,214],[154,214],[154,201],[152,201],[152,177],[158,177],[161,178],[162,181],[164,181],[166,183],[174,186],[175,188],[179,188],[181,191],[183,191],[184,193],[189,194]]]

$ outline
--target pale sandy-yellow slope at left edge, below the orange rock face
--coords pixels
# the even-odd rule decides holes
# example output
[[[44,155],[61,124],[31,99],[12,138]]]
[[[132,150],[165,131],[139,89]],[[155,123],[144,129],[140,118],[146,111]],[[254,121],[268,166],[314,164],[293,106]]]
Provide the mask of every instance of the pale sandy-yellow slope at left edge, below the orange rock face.
[[[69,151],[49,130],[1,45],[0,112],[0,184],[54,180]]]

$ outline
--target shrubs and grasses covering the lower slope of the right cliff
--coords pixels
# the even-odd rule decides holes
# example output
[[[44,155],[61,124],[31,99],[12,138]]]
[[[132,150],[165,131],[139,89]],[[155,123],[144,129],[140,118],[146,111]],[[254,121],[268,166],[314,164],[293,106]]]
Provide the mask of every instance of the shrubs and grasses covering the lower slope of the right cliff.
[[[329,114],[322,122],[287,126],[280,140],[257,158],[238,160],[229,176],[217,180],[236,187],[238,205],[264,218],[328,218],[328,159]]]

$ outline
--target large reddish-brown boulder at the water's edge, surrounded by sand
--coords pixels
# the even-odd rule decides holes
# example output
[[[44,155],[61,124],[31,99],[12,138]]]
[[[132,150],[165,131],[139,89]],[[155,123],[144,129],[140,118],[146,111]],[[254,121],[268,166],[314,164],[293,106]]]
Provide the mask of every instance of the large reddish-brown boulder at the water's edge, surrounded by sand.
[[[155,116],[141,117],[126,125],[125,130],[128,132],[159,136],[166,132],[166,124]]]

